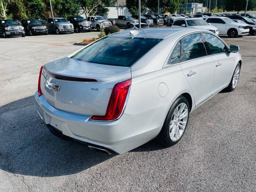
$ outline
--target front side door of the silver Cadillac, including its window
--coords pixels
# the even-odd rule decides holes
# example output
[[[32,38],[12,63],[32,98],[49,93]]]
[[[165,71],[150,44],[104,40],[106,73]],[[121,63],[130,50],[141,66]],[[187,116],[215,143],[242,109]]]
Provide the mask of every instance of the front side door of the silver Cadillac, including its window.
[[[202,33],[207,43],[209,54],[214,60],[214,83],[212,94],[222,90],[229,84],[233,72],[234,57],[228,52],[226,45],[217,37],[210,33]]]

